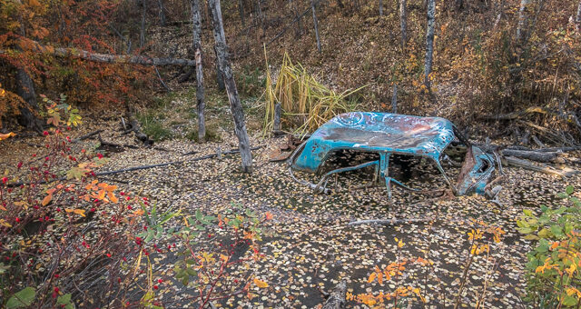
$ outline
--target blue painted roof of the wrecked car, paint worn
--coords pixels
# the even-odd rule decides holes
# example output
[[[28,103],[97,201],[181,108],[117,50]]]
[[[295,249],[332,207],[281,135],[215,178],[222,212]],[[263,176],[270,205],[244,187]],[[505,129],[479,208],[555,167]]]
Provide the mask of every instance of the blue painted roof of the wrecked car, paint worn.
[[[444,118],[351,112],[335,116],[310,135],[293,167],[315,172],[337,149],[412,154],[438,161],[453,140],[453,125]]]

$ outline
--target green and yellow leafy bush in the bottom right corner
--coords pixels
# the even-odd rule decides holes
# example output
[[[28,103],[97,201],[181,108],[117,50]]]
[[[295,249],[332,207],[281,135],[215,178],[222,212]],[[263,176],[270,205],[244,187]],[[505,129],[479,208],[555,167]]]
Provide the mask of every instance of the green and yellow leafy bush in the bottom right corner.
[[[527,300],[541,308],[578,307],[581,304],[581,201],[572,185],[557,197],[572,205],[540,214],[526,209],[517,221],[520,233],[537,246],[527,254]]]

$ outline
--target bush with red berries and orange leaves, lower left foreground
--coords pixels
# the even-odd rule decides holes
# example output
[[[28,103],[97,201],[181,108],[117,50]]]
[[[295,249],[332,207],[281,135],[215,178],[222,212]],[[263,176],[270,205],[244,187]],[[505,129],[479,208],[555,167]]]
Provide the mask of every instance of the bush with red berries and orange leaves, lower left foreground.
[[[67,125],[81,118],[64,99],[56,104],[44,97],[53,125],[44,131],[46,154],[33,154],[0,179],[0,304],[160,308],[175,292],[163,289],[172,277],[158,274],[164,265],[155,255],[176,250],[184,259],[173,275],[199,292],[192,302],[201,308],[230,297],[234,290],[226,288],[239,294],[252,282],[268,285],[253,278],[250,266],[235,275],[231,268],[261,257],[256,242],[270,214],[259,220],[240,209],[223,217],[161,211],[145,197],[99,182],[93,169],[107,159],[74,145]],[[186,226],[166,228],[171,221]],[[241,244],[252,249],[250,256],[233,250]],[[212,288],[200,288],[208,280]]]

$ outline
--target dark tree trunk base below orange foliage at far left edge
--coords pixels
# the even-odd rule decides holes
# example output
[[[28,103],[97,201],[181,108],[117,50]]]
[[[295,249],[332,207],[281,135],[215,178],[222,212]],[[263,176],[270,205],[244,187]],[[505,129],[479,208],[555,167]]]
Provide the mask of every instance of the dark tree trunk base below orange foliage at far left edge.
[[[38,110],[34,82],[22,68],[18,68],[16,72],[16,94],[28,104],[28,106],[20,108],[20,116],[18,117],[20,125],[39,133],[42,132],[43,123],[34,115],[34,111]]]

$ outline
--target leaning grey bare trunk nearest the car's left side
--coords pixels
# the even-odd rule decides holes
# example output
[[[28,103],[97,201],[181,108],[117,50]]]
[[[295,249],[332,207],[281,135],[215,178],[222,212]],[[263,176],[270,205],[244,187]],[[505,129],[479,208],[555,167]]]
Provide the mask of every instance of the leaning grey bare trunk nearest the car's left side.
[[[232,75],[230,59],[228,56],[226,36],[222,25],[222,9],[220,7],[220,0],[208,0],[212,13],[212,24],[214,40],[216,41],[216,52],[218,54],[217,62],[220,65],[220,70],[226,85],[226,94],[230,101],[230,108],[234,118],[234,132],[238,136],[240,143],[240,154],[242,159],[242,172],[251,173],[252,171],[252,154],[248,134],[246,133],[246,125],[244,124],[244,111],[238,96],[238,89],[234,82]]]

